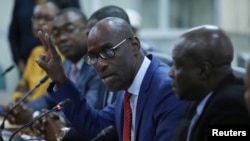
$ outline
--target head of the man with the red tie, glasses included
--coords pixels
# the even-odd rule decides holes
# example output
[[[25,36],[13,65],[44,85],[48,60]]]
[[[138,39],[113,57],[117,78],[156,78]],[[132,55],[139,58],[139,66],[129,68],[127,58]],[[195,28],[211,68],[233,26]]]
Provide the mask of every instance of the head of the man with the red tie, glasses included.
[[[94,62],[96,72],[111,91],[127,90],[144,59],[131,26],[116,17],[105,18],[90,30],[88,56],[86,60]]]

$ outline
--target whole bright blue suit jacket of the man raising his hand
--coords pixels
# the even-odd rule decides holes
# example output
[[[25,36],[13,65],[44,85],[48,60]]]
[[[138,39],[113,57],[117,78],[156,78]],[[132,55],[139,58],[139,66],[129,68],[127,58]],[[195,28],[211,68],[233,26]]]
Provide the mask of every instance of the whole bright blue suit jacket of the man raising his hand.
[[[136,141],[169,141],[183,118],[186,102],[177,100],[172,91],[170,68],[158,58],[148,55],[150,66],[140,88],[136,109]],[[57,102],[71,99],[63,111],[73,126],[89,140],[103,128],[113,125],[118,139],[122,140],[123,92],[117,94],[114,104],[103,110],[89,106],[73,83],[68,80],[56,92],[52,83],[48,92]]]

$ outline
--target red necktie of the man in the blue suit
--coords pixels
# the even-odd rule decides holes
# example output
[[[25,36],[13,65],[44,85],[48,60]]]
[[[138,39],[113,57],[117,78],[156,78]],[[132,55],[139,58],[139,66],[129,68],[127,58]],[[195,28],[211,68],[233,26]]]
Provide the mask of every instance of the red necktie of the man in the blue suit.
[[[126,92],[123,99],[123,141],[130,141],[131,139],[131,123],[132,111],[130,107],[131,94]]]

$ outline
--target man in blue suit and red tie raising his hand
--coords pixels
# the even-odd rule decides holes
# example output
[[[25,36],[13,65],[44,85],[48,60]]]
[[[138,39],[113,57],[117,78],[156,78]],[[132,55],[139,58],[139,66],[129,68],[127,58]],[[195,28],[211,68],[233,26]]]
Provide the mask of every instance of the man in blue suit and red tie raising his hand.
[[[183,118],[186,102],[178,101],[167,75],[169,67],[152,55],[144,56],[131,26],[115,17],[99,21],[88,35],[88,54],[105,86],[119,91],[114,104],[94,110],[64,74],[60,58],[45,31],[40,39],[48,52],[37,59],[54,83],[48,88],[56,101],[70,98],[64,113],[89,140],[112,125],[120,141],[169,141]]]

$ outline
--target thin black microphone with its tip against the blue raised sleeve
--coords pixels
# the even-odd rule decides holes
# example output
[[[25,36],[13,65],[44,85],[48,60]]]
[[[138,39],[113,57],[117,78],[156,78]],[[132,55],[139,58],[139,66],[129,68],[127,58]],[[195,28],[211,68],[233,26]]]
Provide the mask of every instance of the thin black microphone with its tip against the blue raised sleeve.
[[[66,106],[68,103],[70,102],[70,99],[65,99],[63,101],[61,101],[60,103],[58,103],[56,106],[54,106],[51,110],[42,113],[41,115],[35,117],[33,120],[31,120],[30,122],[26,123],[25,125],[23,125],[22,127],[18,128],[15,132],[13,132],[13,134],[10,136],[9,141],[12,140],[12,138],[22,129],[31,126],[35,121],[40,120],[42,117],[48,115],[51,112],[54,111],[59,111],[61,110],[64,106]]]

